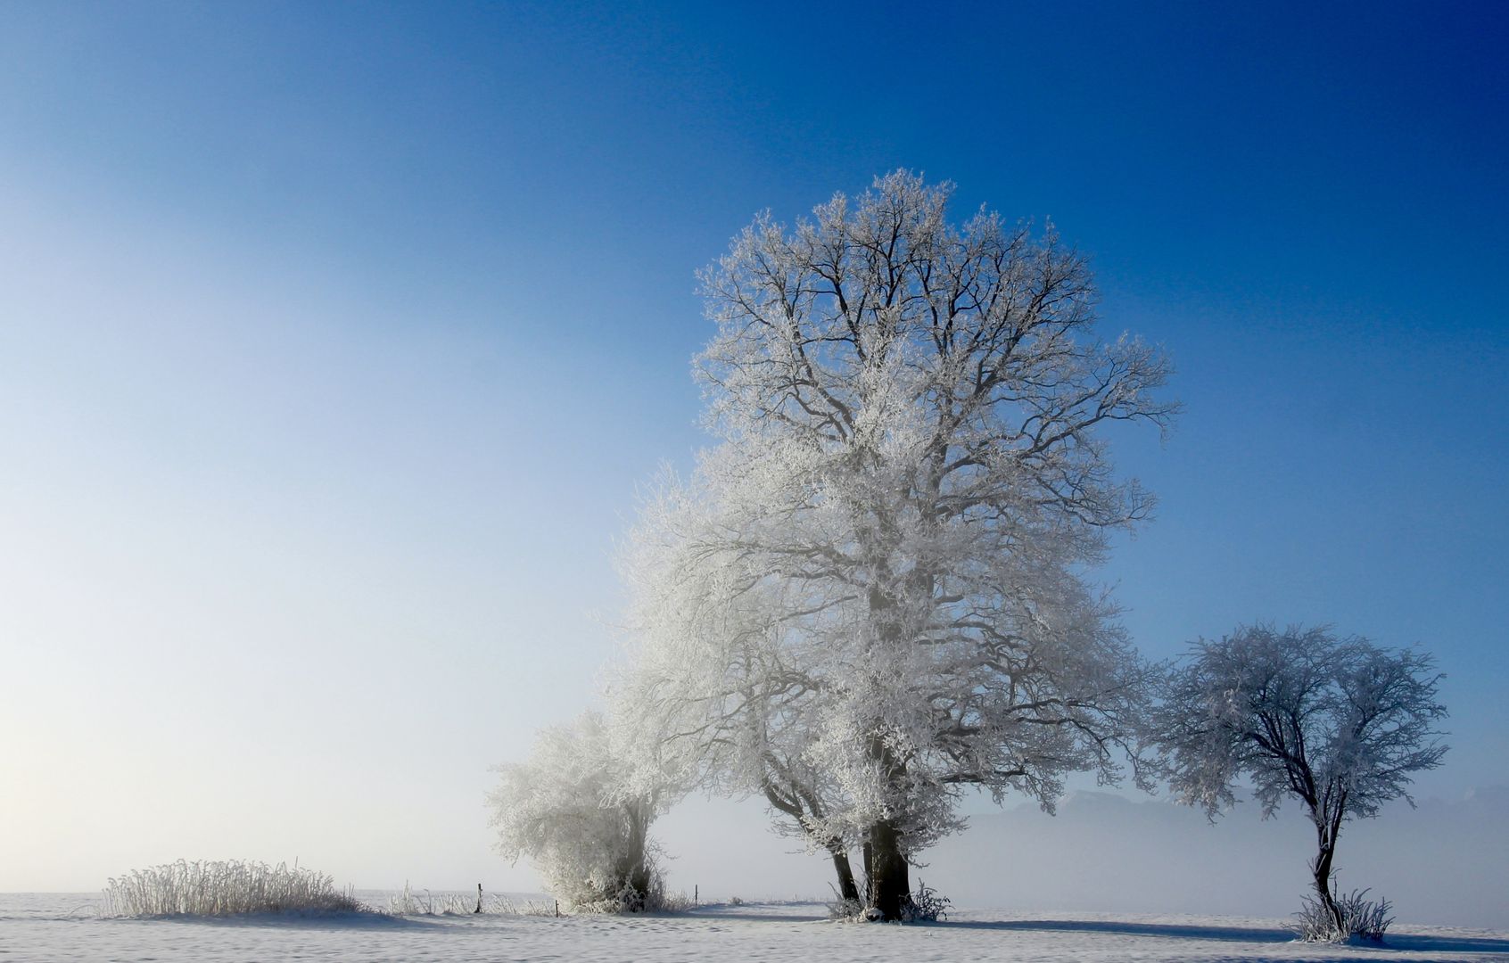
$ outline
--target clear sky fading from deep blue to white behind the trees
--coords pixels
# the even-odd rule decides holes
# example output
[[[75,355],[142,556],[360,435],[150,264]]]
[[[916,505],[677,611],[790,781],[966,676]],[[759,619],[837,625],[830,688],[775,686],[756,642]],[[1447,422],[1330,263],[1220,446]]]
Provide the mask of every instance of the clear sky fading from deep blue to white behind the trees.
[[[703,444],[693,272],[898,166],[1052,217],[1105,332],[1176,359],[1168,444],[1115,438],[1162,500],[1105,572],[1144,651],[1423,643],[1456,746],[1423,791],[1509,782],[1506,36],[1498,3],[0,6],[0,891],[527,880],[486,767],[592,697],[635,485]]]

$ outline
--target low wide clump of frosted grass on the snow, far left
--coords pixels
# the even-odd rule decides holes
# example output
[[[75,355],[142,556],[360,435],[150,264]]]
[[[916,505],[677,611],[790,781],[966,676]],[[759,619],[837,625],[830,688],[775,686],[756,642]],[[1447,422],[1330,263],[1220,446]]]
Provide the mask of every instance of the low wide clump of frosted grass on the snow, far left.
[[[235,916],[370,910],[314,869],[247,860],[187,862],[133,869],[104,891],[107,916]]]

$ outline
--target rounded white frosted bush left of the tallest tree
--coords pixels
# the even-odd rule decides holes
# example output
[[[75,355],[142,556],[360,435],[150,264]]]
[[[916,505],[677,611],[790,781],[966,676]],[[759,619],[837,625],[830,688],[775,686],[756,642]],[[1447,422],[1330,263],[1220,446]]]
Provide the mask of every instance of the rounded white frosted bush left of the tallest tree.
[[[629,788],[623,753],[598,712],[545,729],[527,762],[499,765],[487,794],[496,850],[527,857],[549,891],[572,909],[638,910],[664,886],[649,827],[658,788]]]

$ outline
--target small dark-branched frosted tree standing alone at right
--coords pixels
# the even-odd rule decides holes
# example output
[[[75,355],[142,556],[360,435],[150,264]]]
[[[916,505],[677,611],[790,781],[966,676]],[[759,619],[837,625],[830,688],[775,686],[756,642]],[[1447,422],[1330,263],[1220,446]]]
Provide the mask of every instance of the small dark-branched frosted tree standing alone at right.
[[[1212,820],[1236,803],[1243,776],[1265,817],[1286,797],[1301,801],[1316,830],[1316,897],[1328,933],[1345,939],[1354,927],[1331,885],[1337,838],[1391,798],[1412,806],[1411,776],[1441,764],[1441,678],[1424,652],[1329,628],[1243,626],[1197,641],[1169,675],[1156,743],[1174,792]]]

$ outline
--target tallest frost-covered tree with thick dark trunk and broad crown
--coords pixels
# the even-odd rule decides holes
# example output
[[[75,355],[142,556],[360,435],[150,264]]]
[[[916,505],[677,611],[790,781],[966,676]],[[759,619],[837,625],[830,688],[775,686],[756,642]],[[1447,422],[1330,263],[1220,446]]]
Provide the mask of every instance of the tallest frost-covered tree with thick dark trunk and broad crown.
[[[1142,777],[1150,672],[1083,572],[1151,504],[1099,430],[1174,414],[1159,352],[1096,338],[1080,255],[949,193],[890,174],[703,272],[720,444],[623,566],[644,752],[765,797],[841,889],[859,848],[890,919],[963,786]]]

